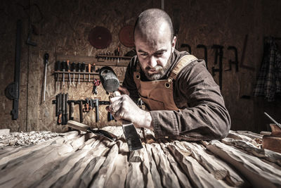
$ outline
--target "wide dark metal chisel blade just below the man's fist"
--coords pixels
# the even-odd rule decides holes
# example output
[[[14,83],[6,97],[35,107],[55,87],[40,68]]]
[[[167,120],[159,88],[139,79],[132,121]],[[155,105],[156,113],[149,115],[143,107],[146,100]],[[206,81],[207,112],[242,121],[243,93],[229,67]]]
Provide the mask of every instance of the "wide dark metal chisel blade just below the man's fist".
[[[133,126],[133,123],[123,120],[122,121],[123,132],[129,146],[129,151],[135,151],[143,148],[141,144],[141,139],[136,132],[136,127]]]

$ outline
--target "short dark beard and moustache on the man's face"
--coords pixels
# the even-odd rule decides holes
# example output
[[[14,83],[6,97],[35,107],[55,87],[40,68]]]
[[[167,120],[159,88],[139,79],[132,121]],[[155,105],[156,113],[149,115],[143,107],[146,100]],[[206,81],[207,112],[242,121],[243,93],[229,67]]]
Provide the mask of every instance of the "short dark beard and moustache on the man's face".
[[[145,70],[143,70],[143,72],[145,73],[145,76],[148,78],[148,80],[151,80],[151,81],[159,80],[164,75],[166,75],[166,72],[169,70],[169,68],[171,66],[171,54],[164,67],[162,67],[161,65],[156,65],[154,68],[146,67]],[[148,71],[151,69],[157,71],[157,73],[148,73]]]

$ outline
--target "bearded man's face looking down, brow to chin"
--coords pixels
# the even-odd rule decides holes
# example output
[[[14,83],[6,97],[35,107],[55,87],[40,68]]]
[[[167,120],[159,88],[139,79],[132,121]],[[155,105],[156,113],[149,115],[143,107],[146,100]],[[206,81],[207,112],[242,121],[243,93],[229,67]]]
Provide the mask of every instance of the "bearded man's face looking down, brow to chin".
[[[148,33],[151,35],[135,32],[136,53],[148,80],[159,80],[171,65],[171,54],[175,49],[176,37],[171,41],[169,30],[163,28]]]

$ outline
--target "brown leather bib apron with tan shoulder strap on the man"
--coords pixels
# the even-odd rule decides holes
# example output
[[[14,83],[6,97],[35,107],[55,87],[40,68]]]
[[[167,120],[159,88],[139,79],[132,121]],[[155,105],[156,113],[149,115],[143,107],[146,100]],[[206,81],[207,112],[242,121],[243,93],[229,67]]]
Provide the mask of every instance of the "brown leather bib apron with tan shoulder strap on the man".
[[[150,111],[168,110],[178,111],[174,102],[173,82],[176,75],[192,61],[197,58],[192,55],[185,55],[179,61],[176,67],[171,71],[167,80],[141,81],[140,65],[137,65],[136,71],[133,72],[133,80],[136,83],[138,94]]]

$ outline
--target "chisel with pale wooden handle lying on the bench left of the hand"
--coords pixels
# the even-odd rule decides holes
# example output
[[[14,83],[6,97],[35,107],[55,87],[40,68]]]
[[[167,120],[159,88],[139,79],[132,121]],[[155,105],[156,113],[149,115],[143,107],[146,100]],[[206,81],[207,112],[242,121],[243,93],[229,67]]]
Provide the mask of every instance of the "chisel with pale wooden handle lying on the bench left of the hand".
[[[68,121],[67,126],[72,127],[74,130],[81,130],[84,132],[93,132],[93,134],[97,134],[102,137],[105,137],[106,139],[109,139],[111,142],[115,142],[115,140],[117,140],[117,137],[115,136],[115,134],[107,132],[106,130],[93,130],[88,125],[78,123],[76,121],[72,121],[72,120]]]

